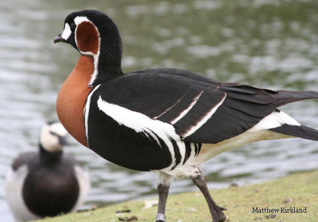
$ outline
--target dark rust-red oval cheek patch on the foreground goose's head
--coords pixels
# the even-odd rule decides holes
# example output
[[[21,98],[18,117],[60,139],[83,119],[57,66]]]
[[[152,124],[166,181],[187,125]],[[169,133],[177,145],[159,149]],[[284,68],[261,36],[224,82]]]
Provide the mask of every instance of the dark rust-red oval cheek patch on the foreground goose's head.
[[[88,21],[81,22],[76,30],[78,48],[83,53],[97,54],[99,51],[99,34],[97,28]]]

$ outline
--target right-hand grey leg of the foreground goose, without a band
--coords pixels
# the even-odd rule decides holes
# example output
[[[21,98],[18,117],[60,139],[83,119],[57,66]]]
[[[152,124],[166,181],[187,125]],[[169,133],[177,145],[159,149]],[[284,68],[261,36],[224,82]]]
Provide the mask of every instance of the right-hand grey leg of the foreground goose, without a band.
[[[201,190],[205,200],[208,203],[209,210],[210,210],[210,213],[211,213],[212,219],[213,219],[212,222],[224,222],[226,217],[222,211],[227,210],[227,209],[223,208],[223,207],[219,207],[217,205],[217,203],[215,203],[215,201],[213,200],[213,198],[209,192],[207,182],[206,182],[204,176],[202,175],[202,173],[200,174],[200,176],[192,178],[192,181]]]

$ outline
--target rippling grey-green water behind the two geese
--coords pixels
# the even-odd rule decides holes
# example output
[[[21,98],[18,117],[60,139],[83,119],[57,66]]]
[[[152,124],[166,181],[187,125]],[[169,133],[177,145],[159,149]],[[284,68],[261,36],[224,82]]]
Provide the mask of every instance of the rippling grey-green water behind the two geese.
[[[57,93],[79,53],[53,44],[73,11],[98,9],[122,35],[123,70],[175,67],[221,81],[261,88],[318,90],[316,0],[1,0],[0,1],[0,221],[11,222],[3,200],[7,167],[18,153],[35,150],[46,120],[57,120]],[[282,110],[318,128],[318,102]],[[156,196],[155,172],[115,166],[73,138],[66,153],[90,170],[86,206]],[[248,184],[318,168],[318,143],[262,141],[223,153],[202,169],[210,188]],[[171,192],[192,191],[189,179]]]

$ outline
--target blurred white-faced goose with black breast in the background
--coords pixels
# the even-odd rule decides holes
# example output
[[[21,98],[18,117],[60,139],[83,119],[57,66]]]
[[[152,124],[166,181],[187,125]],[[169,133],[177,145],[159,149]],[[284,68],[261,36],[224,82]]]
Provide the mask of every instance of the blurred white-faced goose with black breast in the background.
[[[20,154],[5,180],[5,199],[17,222],[75,212],[90,183],[87,171],[63,154],[67,131],[60,122],[45,124],[39,152]]]

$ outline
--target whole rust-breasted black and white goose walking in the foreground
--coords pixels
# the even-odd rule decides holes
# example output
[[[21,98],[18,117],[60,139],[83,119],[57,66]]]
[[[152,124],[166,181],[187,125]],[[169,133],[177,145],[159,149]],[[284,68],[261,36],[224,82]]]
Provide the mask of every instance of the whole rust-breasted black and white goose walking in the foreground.
[[[81,56],[59,92],[58,116],[71,135],[106,160],[157,170],[158,222],[165,221],[173,177],[191,178],[213,222],[226,220],[200,170],[215,155],[260,140],[318,140],[317,130],[278,110],[318,98],[317,92],[258,89],[171,68],[123,73],[120,35],[107,15],[74,12],[64,27],[54,43],[69,43]]]

